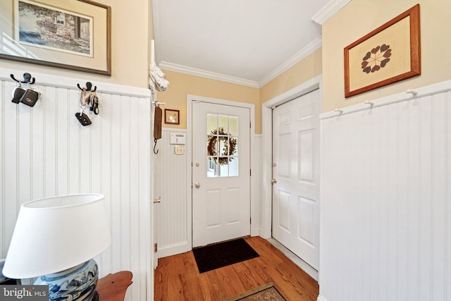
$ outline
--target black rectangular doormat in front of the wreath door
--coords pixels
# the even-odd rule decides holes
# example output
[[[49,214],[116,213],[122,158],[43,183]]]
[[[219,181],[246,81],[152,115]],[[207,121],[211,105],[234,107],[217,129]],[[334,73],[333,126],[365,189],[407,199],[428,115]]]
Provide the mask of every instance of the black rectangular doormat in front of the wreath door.
[[[199,273],[260,256],[243,238],[197,247],[192,252],[194,253]]]

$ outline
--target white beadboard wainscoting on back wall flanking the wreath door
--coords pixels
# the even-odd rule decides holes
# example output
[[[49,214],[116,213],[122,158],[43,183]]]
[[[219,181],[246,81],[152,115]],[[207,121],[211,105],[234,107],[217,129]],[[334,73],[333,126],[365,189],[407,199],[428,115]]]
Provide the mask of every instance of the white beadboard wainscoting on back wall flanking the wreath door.
[[[191,194],[191,185],[188,175],[191,158],[187,147],[185,154],[175,154],[171,145],[171,133],[187,134],[187,130],[163,128],[161,140],[156,149],[159,149],[155,161],[154,197],[161,197],[161,202],[155,205],[155,241],[158,244],[157,257],[168,257],[192,249],[192,212],[187,197]],[[252,144],[252,176],[251,176],[251,203],[252,228],[251,235],[259,235],[260,230],[260,188],[261,188],[261,135],[254,136]]]

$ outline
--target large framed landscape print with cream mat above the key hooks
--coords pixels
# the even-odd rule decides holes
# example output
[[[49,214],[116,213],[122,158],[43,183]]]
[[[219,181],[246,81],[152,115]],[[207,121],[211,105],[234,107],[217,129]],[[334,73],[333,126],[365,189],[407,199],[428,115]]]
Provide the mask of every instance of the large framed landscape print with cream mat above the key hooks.
[[[0,59],[111,76],[110,6],[1,1],[0,35]]]

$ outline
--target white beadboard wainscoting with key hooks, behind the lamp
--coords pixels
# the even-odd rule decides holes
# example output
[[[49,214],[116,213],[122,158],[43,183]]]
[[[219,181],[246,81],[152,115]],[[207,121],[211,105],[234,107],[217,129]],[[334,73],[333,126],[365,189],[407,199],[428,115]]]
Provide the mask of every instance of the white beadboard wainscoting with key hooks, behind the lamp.
[[[16,82],[10,73],[21,79],[24,71],[0,68],[0,258],[6,257],[21,204],[99,192],[108,204],[112,238],[95,258],[99,276],[132,271],[125,299],[153,300],[149,90],[92,82],[100,113],[89,115],[92,125],[83,127],[74,116],[77,83],[83,87],[88,79],[32,74],[42,99],[31,108],[11,102]],[[74,243],[83,243],[83,233]]]

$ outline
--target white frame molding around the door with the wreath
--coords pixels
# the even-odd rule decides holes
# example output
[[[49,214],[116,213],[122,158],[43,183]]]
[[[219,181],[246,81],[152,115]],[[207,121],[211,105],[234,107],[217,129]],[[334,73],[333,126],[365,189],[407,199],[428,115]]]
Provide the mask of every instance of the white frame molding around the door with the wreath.
[[[196,95],[191,95],[191,94],[187,94],[187,140],[186,140],[186,155],[187,155],[187,171],[188,175],[187,175],[187,246],[190,248],[190,250],[192,250],[192,102],[194,101],[199,101],[199,102],[209,102],[210,104],[222,104],[225,106],[237,106],[240,108],[245,108],[245,109],[249,109],[249,113],[250,113],[250,121],[251,121],[251,125],[250,125],[250,141],[249,141],[249,156],[250,156],[250,166],[251,166],[251,170],[256,169],[255,164],[258,164],[259,162],[256,162],[256,160],[254,159],[255,156],[253,155],[253,152],[255,152],[254,149],[254,136],[255,136],[255,105],[254,104],[248,104],[245,102],[234,102],[231,100],[226,100],[226,99],[217,99],[217,98],[212,98],[212,97],[202,97],[202,96],[196,96]],[[249,185],[250,185],[250,214],[251,214],[251,223],[249,224],[250,227],[250,234],[251,236],[254,235],[259,235],[259,233],[256,233],[256,231],[254,230],[253,224],[254,221],[259,221],[259,218],[257,216],[254,216],[254,208],[257,205],[257,200],[254,199],[254,191],[255,191],[255,187],[253,185],[252,181],[252,176],[249,180]],[[190,251],[187,250],[187,251]]]

